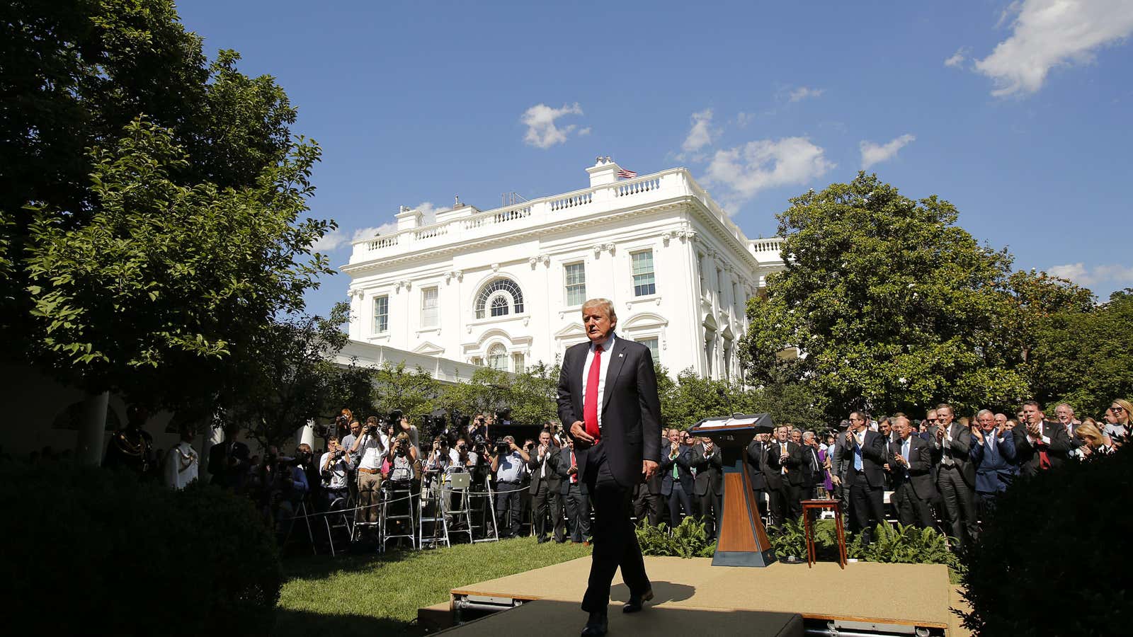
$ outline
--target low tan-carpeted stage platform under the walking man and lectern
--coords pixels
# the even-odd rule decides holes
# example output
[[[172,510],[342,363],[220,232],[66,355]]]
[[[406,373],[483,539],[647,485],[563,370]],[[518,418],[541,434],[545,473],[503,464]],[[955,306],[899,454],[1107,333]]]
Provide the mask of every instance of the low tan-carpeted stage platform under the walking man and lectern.
[[[534,626],[539,637],[578,635],[586,621],[579,601],[589,569],[590,558],[579,558],[454,588],[450,605],[454,621],[492,610],[506,612],[454,626],[445,634],[495,637],[504,627]],[[656,598],[641,613],[621,612],[629,591],[620,577],[614,578],[612,634],[802,637],[804,628],[828,629],[833,622],[840,631],[858,634],[960,637],[949,611],[954,587],[940,564],[739,568],[713,567],[709,558],[646,558],[646,570]]]

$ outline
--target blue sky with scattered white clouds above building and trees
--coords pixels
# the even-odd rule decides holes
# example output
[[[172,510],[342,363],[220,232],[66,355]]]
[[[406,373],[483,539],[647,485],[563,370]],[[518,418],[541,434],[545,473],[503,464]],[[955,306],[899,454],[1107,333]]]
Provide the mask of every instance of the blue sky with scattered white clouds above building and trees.
[[[582,188],[611,155],[688,167],[749,237],[861,168],[937,194],[1016,267],[1133,286],[1133,2],[194,0],[323,147],[313,214],[349,240],[399,205]],[[346,298],[324,280],[309,309]]]

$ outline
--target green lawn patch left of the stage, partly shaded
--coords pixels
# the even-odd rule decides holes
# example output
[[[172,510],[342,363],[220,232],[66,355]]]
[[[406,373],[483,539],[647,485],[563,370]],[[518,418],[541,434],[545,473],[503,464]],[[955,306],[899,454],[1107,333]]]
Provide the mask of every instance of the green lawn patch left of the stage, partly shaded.
[[[449,591],[590,554],[581,544],[534,537],[384,555],[293,557],[283,562],[273,635],[420,635],[417,609]]]

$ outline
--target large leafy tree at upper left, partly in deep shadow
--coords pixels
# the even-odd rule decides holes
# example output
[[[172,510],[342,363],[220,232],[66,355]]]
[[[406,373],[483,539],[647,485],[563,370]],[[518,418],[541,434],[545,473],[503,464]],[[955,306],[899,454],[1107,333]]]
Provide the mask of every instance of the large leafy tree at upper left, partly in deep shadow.
[[[295,108],[236,52],[210,62],[171,0],[9,2],[0,42],[8,356],[91,391],[214,400],[220,362],[330,272]]]

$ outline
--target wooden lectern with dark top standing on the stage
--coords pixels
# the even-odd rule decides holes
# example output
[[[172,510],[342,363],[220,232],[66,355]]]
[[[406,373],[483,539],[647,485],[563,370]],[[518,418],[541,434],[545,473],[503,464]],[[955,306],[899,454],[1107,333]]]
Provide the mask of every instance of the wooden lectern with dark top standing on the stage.
[[[767,529],[751,492],[748,443],[757,433],[774,430],[769,414],[733,414],[705,418],[689,433],[712,439],[724,464],[724,511],[719,523],[714,567],[766,567],[775,561]]]

